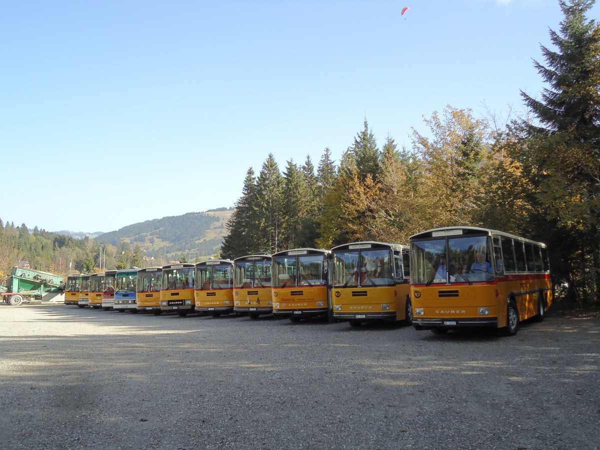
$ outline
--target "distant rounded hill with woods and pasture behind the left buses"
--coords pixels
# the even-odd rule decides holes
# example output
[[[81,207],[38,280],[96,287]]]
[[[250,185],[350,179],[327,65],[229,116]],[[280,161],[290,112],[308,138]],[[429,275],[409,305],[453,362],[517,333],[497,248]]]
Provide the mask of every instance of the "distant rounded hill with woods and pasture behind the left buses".
[[[205,212],[146,220],[96,238],[118,247],[139,245],[147,257],[178,259],[185,253],[188,260],[217,253],[227,233],[225,224],[233,208],[219,208]]]

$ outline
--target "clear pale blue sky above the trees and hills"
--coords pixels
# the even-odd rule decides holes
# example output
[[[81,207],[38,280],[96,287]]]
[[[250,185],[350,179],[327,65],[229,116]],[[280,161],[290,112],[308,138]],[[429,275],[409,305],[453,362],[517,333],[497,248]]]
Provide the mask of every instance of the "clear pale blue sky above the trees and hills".
[[[448,104],[522,111],[562,17],[557,0],[4,0],[0,218],[109,232],[233,206],[269,153],[338,162],[365,118],[410,146]]]

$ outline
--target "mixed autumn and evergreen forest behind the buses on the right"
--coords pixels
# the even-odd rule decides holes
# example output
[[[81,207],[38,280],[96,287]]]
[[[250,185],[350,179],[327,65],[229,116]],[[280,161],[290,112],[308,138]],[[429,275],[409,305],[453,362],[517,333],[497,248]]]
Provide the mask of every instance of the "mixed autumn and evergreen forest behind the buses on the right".
[[[269,154],[248,169],[221,256],[352,241],[406,244],[442,226],[482,226],[545,242],[553,281],[570,307],[599,305],[600,27],[593,0],[560,1],[556,49],[535,61],[548,86],[521,91],[526,113],[476,118],[450,105],[412,128],[410,148],[381,147],[368,126],[339,164]]]

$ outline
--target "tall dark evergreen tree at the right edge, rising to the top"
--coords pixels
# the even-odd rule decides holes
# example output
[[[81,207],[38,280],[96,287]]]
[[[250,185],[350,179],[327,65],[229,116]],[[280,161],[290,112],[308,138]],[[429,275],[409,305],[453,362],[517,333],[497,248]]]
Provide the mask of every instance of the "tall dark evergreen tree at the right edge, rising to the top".
[[[572,282],[572,296],[589,304],[598,304],[600,293],[600,25],[586,17],[594,3],[559,2],[560,32],[550,30],[557,50],[541,46],[546,65],[535,61],[548,88],[540,100],[521,93],[539,124],[525,124],[530,139],[520,161],[544,211],[544,234],[572,236],[570,250],[553,256],[578,262],[560,275]],[[551,249],[561,247],[552,241]]]

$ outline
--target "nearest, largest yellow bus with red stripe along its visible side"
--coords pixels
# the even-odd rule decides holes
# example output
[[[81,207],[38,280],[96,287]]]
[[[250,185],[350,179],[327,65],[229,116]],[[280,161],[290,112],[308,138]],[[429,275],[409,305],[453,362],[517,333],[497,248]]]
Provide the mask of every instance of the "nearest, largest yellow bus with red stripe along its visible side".
[[[553,301],[545,244],[497,230],[445,227],[410,236],[416,329],[488,327],[514,335]]]

